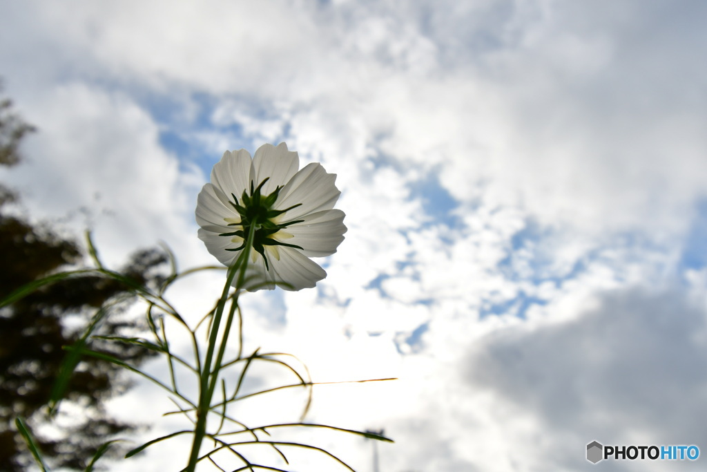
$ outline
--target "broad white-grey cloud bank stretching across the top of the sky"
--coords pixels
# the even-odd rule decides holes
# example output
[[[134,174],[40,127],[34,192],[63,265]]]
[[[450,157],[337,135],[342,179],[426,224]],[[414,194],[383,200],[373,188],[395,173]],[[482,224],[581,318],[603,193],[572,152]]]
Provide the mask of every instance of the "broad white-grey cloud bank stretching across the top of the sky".
[[[665,231],[707,173],[701,8],[76,1],[37,8],[33,38],[70,55],[62,69],[262,103],[255,113],[284,117],[305,153],[361,159],[375,146],[404,166],[440,165],[460,200],[484,182],[491,202],[545,224]],[[254,117],[231,114],[252,129]]]

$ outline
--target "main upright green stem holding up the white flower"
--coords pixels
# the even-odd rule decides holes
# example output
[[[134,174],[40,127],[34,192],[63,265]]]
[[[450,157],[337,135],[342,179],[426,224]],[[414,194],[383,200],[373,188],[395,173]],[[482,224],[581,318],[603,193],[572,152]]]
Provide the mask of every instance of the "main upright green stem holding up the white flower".
[[[211,323],[211,333],[209,333],[209,347],[206,350],[206,359],[204,359],[204,365],[201,369],[201,376],[199,381],[199,408],[197,410],[197,424],[194,427],[194,442],[192,442],[192,452],[189,455],[189,465],[187,465],[187,472],[194,472],[197,468],[197,462],[199,462],[199,449],[201,449],[201,442],[206,436],[206,418],[209,416],[209,411],[211,410],[211,399],[214,396],[214,387],[218,381],[218,372],[221,370],[221,360],[223,359],[223,352],[226,350],[226,340],[228,340],[228,329],[230,329],[231,323],[233,323],[234,310],[231,309],[228,313],[228,320],[226,321],[226,332],[223,334],[223,340],[221,346],[218,349],[218,356],[216,359],[216,364],[214,365],[214,370],[211,372],[211,363],[214,358],[214,351],[216,350],[216,341],[218,339],[218,328],[221,326],[221,318],[223,317],[223,309],[226,308],[226,301],[228,300],[228,292],[230,292],[230,286],[238,273],[238,287],[243,287],[243,281],[245,280],[245,270],[248,266],[248,258],[250,257],[250,248],[253,246],[253,241],[255,240],[255,228],[257,224],[256,221],[252,221],[250,226],[250,231],[248,232],[248,238],[245,241],[245,247],[243,252],[240,253],[235,263],[228,270],[228,275],[226,276],[226,284],[223,286],[223,293],[221,294],[221,299],[218,301],[218,306],[216,307],[216,313],[214,313],[214,321]],[[237,299],[234,299],[233,304],[237,303]]]

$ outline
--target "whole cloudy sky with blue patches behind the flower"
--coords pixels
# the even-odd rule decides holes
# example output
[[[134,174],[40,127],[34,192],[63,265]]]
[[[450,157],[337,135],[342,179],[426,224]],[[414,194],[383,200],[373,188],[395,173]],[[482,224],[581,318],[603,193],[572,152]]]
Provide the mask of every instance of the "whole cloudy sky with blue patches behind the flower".
[[[4,93],[39,132],[0,178],[109,264],[165,241],[186,268],[214,262],[211,166],[284,141],[338,175],[349,231],[316,289],[249,296],[247,346],[315,381],[399,377],[322,386],[311,420],[385,429],[385,472],[695,470],[585,446],[707,454],[706,20],[699,0],[4,2]],[[174,295],[190,319],[219,277]],[[160,396],[115,408],[183,427]],[[315,439],[373,471],[370,442]]]

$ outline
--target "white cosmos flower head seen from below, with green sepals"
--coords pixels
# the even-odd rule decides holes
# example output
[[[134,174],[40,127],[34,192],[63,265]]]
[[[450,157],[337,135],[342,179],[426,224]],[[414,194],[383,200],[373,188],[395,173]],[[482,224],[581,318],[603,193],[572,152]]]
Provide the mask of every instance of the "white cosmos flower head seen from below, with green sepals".
[[[319,163],[298,168],[285,143],[264,144],[252,159],[245,149],[226,151],[199,192],[199,238],[222,264],[238,258],[255,222],[246,288],[314,287],[327,272],[310,257],[332,255],[344,241],[344,212],[332,209],[337,176]]]

